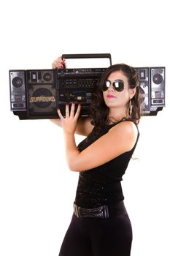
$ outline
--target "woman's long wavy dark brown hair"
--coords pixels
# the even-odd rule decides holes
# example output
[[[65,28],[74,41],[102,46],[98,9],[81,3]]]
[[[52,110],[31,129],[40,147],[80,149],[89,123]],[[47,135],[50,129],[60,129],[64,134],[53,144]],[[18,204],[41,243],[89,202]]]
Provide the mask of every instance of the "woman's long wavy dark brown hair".
[[[115,64],[108,67],[101,78],[98,80],[98,84],[96,86],[96,91],[93,94],[93,103],[90,107],[90,118],[91,124],[96,127],[96,130],[103,129],[109,122],[109,108],[104,102],[102,86],[104,81],[107,80],[109,75],[112,72],[121,71],[123,75],[128,78],[128,86],[131,89],[136,88],[136,93],[134,97],[131,99],[132,112],[131,115],[123,117],[122,120],[131,120],[136,124],[139,123],[139,119],[141,117],[141,108],[140,108],[140,97],[139,97],[139,75],[136,72],[134,67],[128,66],[127,64]],[[127,110],[128,110],[127,102]]]

